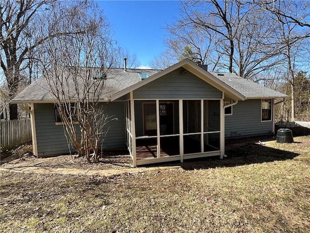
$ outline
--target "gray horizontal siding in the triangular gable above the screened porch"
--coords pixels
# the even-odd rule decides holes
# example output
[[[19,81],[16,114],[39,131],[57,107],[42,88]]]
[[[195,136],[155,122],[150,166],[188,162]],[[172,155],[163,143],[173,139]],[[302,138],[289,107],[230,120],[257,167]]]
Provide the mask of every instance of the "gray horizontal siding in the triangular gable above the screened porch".
[[[182,75],[180,75],[182,73]],[[134,99],[221,99],[222,92],[183,68],[133,91]]]

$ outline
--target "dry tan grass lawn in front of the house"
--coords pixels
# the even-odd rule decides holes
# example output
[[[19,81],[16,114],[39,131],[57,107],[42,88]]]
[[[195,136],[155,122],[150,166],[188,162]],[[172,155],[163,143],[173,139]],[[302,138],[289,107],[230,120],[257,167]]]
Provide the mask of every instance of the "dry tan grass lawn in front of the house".
[[[309,233],[310,136],[294,141],[109,178],[1,171],[0,232]]]

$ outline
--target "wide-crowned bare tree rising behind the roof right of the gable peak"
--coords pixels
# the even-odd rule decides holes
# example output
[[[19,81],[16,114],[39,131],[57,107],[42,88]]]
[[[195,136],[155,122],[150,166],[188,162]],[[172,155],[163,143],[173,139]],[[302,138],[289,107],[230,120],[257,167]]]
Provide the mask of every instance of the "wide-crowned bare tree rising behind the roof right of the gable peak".
[[[283,62],[270,36],[276,29],[270,26],[268,14],[246,1],[182,2],[181,17],[168,30],[172,42],[189,45],[210,70],[226,68],[252,78]],[[177,51],[176,45],[170,43],[170,48]]]

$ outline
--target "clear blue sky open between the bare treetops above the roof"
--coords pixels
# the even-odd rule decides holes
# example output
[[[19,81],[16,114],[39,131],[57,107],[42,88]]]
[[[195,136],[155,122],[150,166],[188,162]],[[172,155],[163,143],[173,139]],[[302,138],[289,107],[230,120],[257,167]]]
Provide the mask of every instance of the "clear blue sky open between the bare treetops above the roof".
[[[177,0],[97,0],[114,32],[118,45],[136,54],[141,67],[160,52],[166,50],[163,44],[166,23],[179,15]]]

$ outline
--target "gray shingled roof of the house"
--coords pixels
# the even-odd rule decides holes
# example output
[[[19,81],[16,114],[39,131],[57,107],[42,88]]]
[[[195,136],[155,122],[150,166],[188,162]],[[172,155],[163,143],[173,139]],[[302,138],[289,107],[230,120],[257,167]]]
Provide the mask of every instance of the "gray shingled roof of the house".
[[[198,67],[198,66],[197,66]],[[132,86],[141,81],[141,77],[152,76],[161,70],[154,69],[127,69],[125,72],[122,68],[110,68],[107,73],[107,79],[104,81],[104,88],[101,92],[101,100],[109,100],[111,95]],[[83,73],[83,69],[81,69]],[[209,72],[218,80],[231,86],[234,90],[239,92],[247,99],[260,99],[260,98],[285,98],[286,95],[274,91],[270,88],[259,85],[252,81],[246,80],[237,75],[227,72]],[[140,75],[146,74],[146,75]],[[70,75],[68,76],[70,77]],[[82,87],[82,84],[80,85]],[[73,98],[76,97],[74,83],[69,82],[67,92]],[[13,102],[40,102],[40,101],[53,101],[53,95],[50,93],[50,88],[47,85],[47,80],[41,77],[31,83],[27,88],[21,91],[13,100]]]

